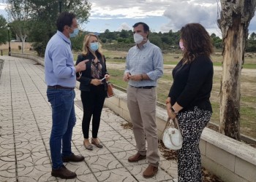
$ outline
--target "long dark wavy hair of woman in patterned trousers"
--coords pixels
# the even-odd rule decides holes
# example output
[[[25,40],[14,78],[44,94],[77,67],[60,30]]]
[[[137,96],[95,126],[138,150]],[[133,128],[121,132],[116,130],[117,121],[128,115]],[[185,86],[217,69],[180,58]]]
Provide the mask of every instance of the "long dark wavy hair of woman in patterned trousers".
[[[181,28],[181,39],[184,44],[184,63],[191,63],[199,55],[208,57],[214,52],[214,46],[206,28],[200,23],[188,23]]]

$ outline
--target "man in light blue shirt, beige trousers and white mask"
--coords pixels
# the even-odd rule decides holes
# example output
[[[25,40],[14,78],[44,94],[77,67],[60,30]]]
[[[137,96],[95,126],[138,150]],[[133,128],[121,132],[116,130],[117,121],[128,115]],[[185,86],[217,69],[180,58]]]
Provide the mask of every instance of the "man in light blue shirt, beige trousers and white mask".
[[[129,157],[128,161],[138,162],[147,158],[149,165],[143,176],[151,178],[157,173],[159,165],[156,87],[157,79],[163,74],[163,58],[159,47],[148,41],[149,27],[146,23],[135,23],[133,33],[136,45],[128,52],[124,81],[128,82],[127,106],[138,153]]]

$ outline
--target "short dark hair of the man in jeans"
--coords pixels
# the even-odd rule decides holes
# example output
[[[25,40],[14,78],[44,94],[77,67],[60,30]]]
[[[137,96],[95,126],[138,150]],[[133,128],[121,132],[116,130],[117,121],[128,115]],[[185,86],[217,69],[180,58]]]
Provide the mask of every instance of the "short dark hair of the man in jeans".
[[[61,12],[56,21],[58,31],[62,32],[64,30],[65,25],[71,26],[74,18],[75,14],[72,12]]]

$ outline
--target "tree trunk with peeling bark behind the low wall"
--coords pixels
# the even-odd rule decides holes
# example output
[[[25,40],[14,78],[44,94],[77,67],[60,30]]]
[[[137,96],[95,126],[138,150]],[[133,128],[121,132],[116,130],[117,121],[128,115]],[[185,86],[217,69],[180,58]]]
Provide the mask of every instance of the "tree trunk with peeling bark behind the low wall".
[[[240,141],[241,68],[248,26],[255,13],[256,1],[221,0],[221,5],[218,23],[224,47],[219,132]]]

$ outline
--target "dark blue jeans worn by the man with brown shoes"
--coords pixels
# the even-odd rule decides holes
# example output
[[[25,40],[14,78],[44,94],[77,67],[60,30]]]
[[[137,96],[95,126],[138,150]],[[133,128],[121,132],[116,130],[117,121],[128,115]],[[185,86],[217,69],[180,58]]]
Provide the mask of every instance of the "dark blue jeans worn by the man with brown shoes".
[[[52,108],[53,126],[50,133],[50,155],[53,169],[63,165],[62,156],[70,156],[72,130],[75,126],[74,90],[48,89],[48,101]]]

